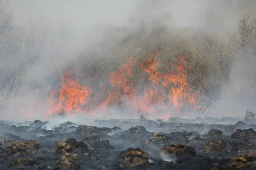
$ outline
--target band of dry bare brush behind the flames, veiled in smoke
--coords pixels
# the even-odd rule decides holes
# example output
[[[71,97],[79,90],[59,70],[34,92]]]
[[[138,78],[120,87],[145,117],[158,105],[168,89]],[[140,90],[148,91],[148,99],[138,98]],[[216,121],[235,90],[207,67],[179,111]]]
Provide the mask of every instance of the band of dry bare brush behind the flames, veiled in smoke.
[[[130,79],[140,94],[144,88],[153,89],[140,65],[150,59],[157,48],[161,50],[156,60],[163,66],[174,62],[177,56],[187,56],[188,83],[191,94],[197,94],[198,105],[216,101],[227,88],[239,99],[247,96],[252,99],[256,94],[255,14],[239,20],[236,34],[230,40],[162,25],[150,31],[146,26],[137,31],[106,26],[104,40],[96,43],[92,40],[84,46],[81,43],[78,50],[72,45],[84,42],[85,38],[72,37],[73,28],[43,19],[16,25],[8,4],[8,0],[0,0],[0,107],[15,99],[26,101],[31,96],[47,101],[52,91],[59,88],[64,71],[70,68],[76,68],[81,84],[92,87],[92,101],[105,101],[108,91],[113,89],[109,75],[131,56],[135,60]],[[52,24],[59,26],[58,29],[52,29]],[[241,66],[237,65],[238,60],[246,69],[233,73],[234,67]],[[158,71],[165,74],[169,68],[161,67]],[[156,86],[160,86],[154,88],[161,93],[169,93],[174,85]],[[58,116],[65,114],[58,111]]]

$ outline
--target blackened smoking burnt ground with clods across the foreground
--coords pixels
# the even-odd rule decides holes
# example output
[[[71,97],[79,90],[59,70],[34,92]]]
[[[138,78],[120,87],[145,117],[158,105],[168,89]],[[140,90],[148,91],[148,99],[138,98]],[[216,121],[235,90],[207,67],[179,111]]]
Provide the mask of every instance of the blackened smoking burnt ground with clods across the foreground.
[[[0,121],[1,170],[256,169],[256,122],[239,118]]]

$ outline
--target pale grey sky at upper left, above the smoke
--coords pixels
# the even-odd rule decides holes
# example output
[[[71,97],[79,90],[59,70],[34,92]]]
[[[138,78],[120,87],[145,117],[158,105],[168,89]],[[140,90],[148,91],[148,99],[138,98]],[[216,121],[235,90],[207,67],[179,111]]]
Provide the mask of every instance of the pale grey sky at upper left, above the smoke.
[[[23,23],[42,16],[65,18],[80,26],[107,20],[122,22],[141,0],[10,0],[15,20]]]

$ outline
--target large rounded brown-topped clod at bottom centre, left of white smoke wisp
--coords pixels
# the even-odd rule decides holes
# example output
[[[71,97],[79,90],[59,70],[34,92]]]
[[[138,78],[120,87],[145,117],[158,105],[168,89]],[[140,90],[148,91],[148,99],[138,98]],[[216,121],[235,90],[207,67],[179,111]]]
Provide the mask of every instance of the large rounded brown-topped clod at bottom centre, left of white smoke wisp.
[[[150,156],[148,153],[145,153],[143,150],[137,148],[129,148],[126,151],[123,151],[116,161],[115,167],[136,167],[143,165],[145,167],[149,164]]]

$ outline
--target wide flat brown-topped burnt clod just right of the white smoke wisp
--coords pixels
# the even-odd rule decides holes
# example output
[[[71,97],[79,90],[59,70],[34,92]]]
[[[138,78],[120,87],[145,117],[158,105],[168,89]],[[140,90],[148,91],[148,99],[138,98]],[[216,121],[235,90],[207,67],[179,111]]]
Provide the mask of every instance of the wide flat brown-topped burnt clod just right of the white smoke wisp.
[[[195,156],[195,149],[193,147],[185,146],[184,144],[172,144],[171,146],[162,147],[160,154],[161,156],[165,156],[165,157]]]

